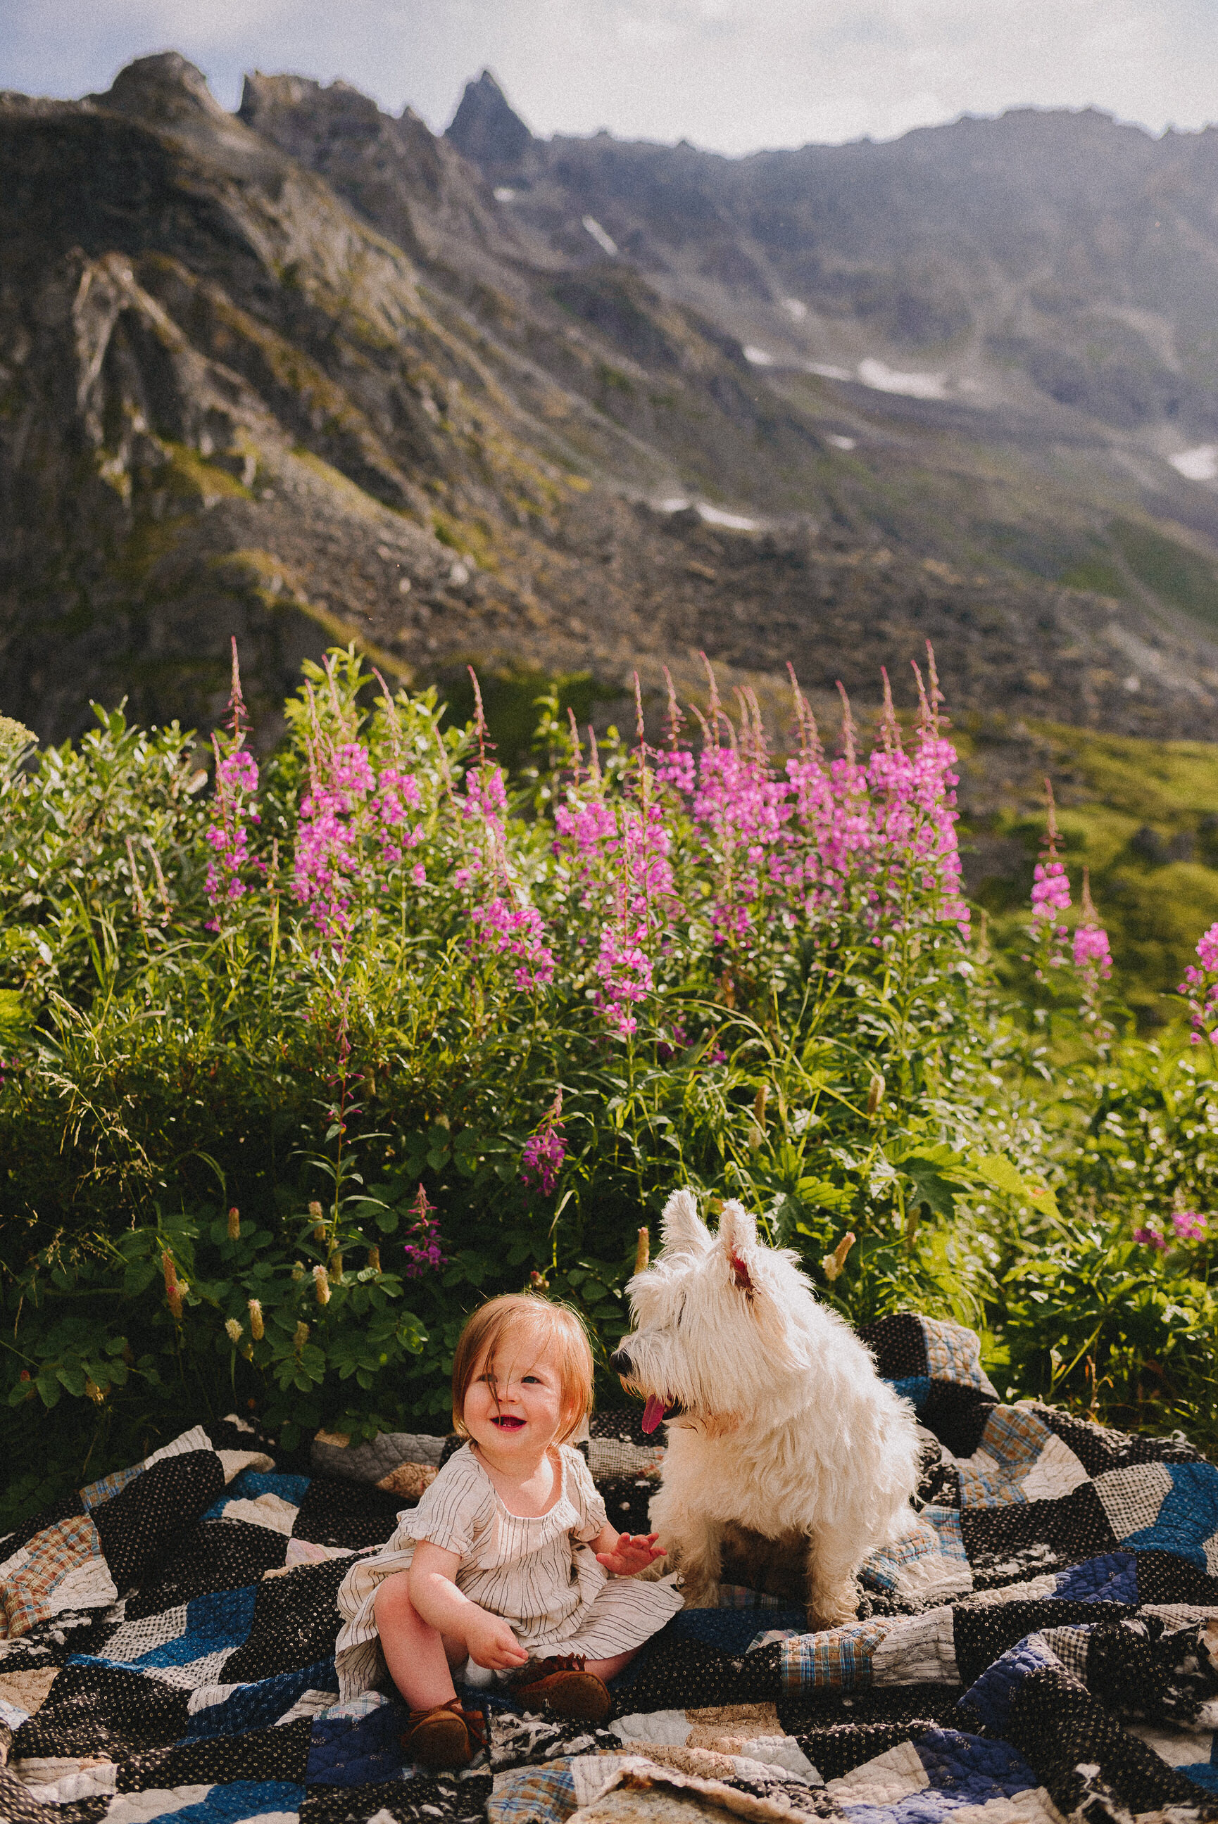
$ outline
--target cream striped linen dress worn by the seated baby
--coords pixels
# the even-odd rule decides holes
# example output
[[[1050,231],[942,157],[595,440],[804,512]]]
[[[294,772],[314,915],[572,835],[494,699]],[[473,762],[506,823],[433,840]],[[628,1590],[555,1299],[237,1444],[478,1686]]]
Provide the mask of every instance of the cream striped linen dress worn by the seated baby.
[[[477,1452],[464,1445],[424,1490],[418,1507],[398,1516],[398,1530],[371,1558],[356,1558],[338,1591],[343,1627],[334,1645],[343,1702],[387,1680],[373,1603],[382,1578],[405,1570],[415,1545],[429,1539],[457,1552],[457,1589],[509,1622],[530,1658],[583,1653],[606,1660],[641,1647],[683,1603],[676,1578],[639,1583],[610,1578],[590,1541],[606,1523],[579,1450],[559,1445],[562,1472],[546,1514],[511,1514]]]

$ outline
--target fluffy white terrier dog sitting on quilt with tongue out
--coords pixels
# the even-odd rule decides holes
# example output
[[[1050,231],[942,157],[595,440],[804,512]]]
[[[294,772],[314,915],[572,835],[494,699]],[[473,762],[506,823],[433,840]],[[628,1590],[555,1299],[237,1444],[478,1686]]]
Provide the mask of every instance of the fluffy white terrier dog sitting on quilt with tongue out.
[[[816,1304],[785,1249],[758,1242],[738,1202],[718,1235],[690,1191],[668,1198],[663,1251],[630,1280],[634,1330],[610,1366],[665,1414],[668,1450],[650,1523],[685,1572],[687,1603],[716,1601],[727,1525],[809,1541],[809,1620],[856,1614],[855,1572],[915,1521],[913,1408],[849,1326]]]

